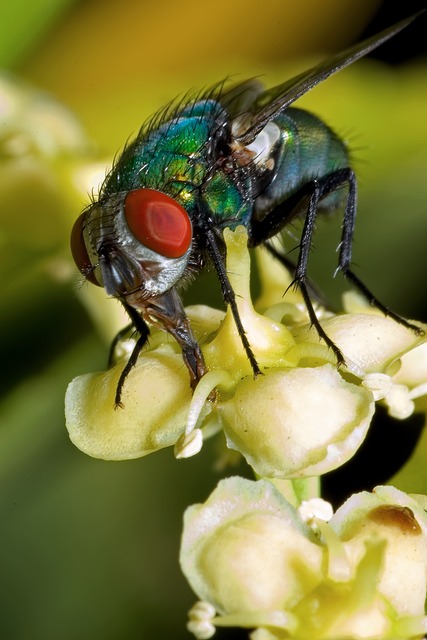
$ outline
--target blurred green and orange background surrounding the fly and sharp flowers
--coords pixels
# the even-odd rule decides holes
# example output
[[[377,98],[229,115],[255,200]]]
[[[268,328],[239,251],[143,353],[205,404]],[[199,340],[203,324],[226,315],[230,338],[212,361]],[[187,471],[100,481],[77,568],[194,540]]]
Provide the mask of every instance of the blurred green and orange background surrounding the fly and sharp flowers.
[[[107,166],[144,118],[175,95],[228,75],[281,82],[360,38],[380,5],[2,3],[0,62],[17,79],[4,81],[0,97],[1,638],[190,637],[186,611],[195,598],[177,563],[182,513],[219,477],[215,443],[187,461],[167,450],[106,463],[68,441],[67,383],[104,368],[118,324],[114,302],[98,292],[88,311],[81,293],[94,300],[92,291],[76,286],[68,237],[87,203],[79,171]],[[381,19],[378,28],[393,22],[386,13]],[[414,48],[415,33],[400,40],[400,64],[363,60],[301,105],[354,150],[358,273],[393,309],[427,320],[427,61]],[[411,59],[402,62],[404,42]],[[319,224],[310,269],[334,301],[345,290],[331,279],[339,227],[339,219]],[[218,300],[215,279],[208,283],[196,283],[187,300],[209,301],[207,289]],[[420,477],[412,490],[426,491],[426,484]]]

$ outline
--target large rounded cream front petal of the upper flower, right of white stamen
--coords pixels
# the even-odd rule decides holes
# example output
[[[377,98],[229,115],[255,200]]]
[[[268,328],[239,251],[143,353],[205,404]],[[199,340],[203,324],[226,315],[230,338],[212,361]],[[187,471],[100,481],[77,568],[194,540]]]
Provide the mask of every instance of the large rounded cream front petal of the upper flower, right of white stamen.
[[[218,411],[228,446],[259,475],[298,478],[344,464],[366,435],[374,402],[327,364],[245,378]]]

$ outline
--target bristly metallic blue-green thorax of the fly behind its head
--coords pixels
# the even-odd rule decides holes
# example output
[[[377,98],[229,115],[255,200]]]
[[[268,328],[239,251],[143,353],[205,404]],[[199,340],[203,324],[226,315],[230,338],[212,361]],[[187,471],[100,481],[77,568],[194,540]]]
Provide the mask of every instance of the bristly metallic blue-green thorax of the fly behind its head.
[[[225,117],[215,100],[201,100],[165,122],[153,123],[125,148],[109,174],[102,197],[150,188],[175,198],[193,220],[203,209],[219,226],[244,224],[250,185],[216,165],[212,141]]]

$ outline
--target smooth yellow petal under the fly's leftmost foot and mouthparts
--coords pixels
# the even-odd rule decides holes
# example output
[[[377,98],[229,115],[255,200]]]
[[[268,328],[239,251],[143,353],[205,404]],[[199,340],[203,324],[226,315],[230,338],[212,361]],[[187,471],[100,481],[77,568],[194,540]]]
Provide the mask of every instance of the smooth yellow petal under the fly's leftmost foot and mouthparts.
[[[175,444],[191,401],[180,354],[160,349],[140,358],[126,378],[123,408],[114,407],[121,360],[112,369],[75,378],[65,413],[72,442],[96,458],[126,460]]]

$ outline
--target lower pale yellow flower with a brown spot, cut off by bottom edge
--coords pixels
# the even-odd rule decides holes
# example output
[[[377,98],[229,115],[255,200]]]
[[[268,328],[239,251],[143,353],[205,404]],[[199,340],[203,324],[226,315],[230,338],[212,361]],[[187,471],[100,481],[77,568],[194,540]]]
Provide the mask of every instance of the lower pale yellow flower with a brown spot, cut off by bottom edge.
[[[326,522],[312,502],[311,512],[297,510],[268,481],[229,478],[187,509],[180,558],[201,600],[188,625],[197,638],[218,626],[255,629],[252,640],[427,631],[427,516],[419,503],[378,487],[352,496]]]

